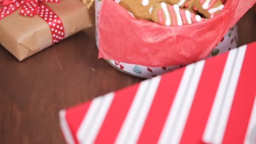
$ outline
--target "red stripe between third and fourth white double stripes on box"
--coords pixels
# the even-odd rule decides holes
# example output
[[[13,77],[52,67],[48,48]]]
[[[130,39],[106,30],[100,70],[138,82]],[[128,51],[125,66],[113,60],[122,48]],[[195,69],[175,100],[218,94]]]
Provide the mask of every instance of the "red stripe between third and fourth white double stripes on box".
[[[181,137],[181,144],[198,144],[202,141],[227,56],[228,53],[225,53],[205,61],[205,67]]]

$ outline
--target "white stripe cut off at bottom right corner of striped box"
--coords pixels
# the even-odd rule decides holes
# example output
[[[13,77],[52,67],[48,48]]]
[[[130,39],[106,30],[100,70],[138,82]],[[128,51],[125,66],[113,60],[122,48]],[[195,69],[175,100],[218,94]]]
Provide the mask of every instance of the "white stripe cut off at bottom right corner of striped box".
[[[244,144],[256,144],[256,95]]]

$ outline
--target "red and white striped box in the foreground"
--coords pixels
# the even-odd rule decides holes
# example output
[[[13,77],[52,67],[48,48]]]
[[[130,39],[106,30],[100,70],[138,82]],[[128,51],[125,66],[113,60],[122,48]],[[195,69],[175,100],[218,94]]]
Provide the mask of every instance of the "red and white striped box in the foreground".
[[[256,42],[60,112],[69,144],[256,144]]]

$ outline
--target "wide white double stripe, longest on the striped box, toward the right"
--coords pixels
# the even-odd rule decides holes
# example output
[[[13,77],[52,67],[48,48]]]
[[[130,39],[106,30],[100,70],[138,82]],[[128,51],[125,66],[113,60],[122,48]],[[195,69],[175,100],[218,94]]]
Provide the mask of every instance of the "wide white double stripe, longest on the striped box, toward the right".
[[[219,144],[222,142],[234,99],[237,81],[243,65],[245,51],[246,46],[243,46],[240,47],[239,50],[234,49],[229,52],[227,63],[203,135],[203,141],[206,143]]]

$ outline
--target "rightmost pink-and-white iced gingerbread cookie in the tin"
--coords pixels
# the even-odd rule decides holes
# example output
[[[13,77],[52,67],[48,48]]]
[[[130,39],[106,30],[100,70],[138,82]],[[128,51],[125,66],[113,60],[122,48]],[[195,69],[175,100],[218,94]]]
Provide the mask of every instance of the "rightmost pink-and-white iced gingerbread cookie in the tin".
[[[209,19],[220,13],[224,8],[221,0],[196,0],[194,11],[198,11],[205,18]]]

